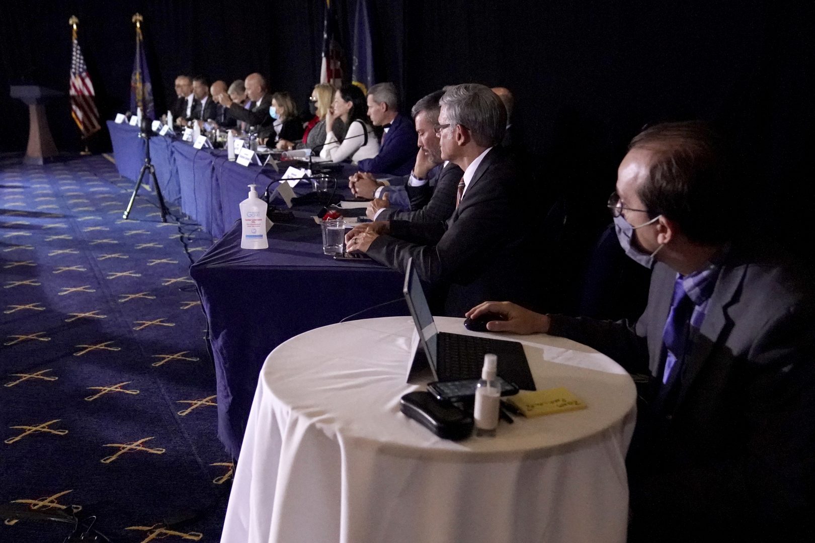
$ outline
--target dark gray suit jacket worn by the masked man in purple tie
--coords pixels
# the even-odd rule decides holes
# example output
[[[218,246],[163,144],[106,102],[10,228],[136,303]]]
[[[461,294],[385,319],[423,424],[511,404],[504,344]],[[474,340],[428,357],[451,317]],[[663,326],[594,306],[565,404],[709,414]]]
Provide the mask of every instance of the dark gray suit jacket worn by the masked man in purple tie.
[[[652,376],[628,453],[631,541],[778,541],[815,501],[813,296],[769,243],[734,243],[665,405],[675,279],[656,265],[635,326],[553,315],[550,328]]]

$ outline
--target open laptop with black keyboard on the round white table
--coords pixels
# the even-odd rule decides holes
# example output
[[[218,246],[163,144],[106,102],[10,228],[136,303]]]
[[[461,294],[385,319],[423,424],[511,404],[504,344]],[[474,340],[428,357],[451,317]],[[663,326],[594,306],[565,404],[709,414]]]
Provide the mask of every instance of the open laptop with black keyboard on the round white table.
[[[484,355],[498,357],[498,374],[523,390],[535,390],[535,379],[529,370],[529,361],[519,341],[491,339],[476,335],[439,332],[430,313],[425,291],[421,288],[413,260],[407,263],[402,292],[413,317],[421,348],[416,349],[408,379],[430,367],[437,381],[478,379],[484,365]]]

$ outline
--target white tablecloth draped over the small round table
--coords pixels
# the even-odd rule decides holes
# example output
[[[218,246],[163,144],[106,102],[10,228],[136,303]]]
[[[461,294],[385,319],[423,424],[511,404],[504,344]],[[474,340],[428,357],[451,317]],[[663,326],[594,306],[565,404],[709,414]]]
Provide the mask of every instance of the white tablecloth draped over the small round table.
[[[471,333],[436,317],[440,331]],[[222,543],[625,541],[624,458],[636,392],[610,358],[568,339],[520,339],[535,385],[588,409],[441,440],[399,413],[409,317],[298,335],[267,357]]]

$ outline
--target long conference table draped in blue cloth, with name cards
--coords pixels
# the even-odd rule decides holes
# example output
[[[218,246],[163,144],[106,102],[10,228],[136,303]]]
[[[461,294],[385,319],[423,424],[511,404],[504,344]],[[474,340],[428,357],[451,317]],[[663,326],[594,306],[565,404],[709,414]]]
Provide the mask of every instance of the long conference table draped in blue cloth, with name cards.
[[[108,128],[119,173],[135,180],[144,164],[144,139],[130,125],[108,121]],[[258,190],[263,190],[272,182],[273,190],[280,173],[241,166],[227,160],[225,151],[197,150],[172,137],[150,138],[150,155],[168,203],[179,205],[216,239],[191,266],[190,275],[207,319],[218,436],[238,458],[267,355],[295,335],[354,313],[407,314],[398,300],[403,277],[372,261],[334,261],[324,255],[319,225],[312,218],[317,206],[297,206],[293,220],[275,222],[268,249],[241,249],[238,204],[246,198],[246,186],[258,182]],[[352,171],[355,167],[349,164],[341,175]],[[302,190],[295,187],[295,192]],[[350,196],[347,189],[344,195]],[[385,306],[374,307],[379,304]]]

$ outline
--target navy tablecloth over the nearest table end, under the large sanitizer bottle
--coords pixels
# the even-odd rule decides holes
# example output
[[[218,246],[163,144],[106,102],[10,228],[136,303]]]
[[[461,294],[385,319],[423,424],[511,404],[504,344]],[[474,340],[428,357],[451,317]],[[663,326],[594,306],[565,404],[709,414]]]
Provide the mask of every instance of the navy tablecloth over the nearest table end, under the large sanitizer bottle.
[[[267,250],[241,249],[240,233],[239,221],[190,268],[214,355],[218,436],[234,458],[271,350],[294,335],[399,299],[403,284],[401,274],[375,263],[325,256],[311,218],[275,224]],[[400,314],[407,314],[402,301],[359,318]]]

